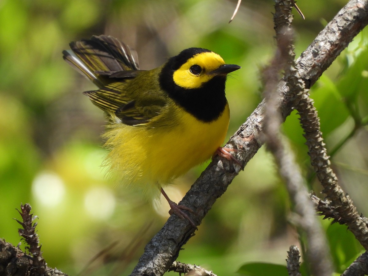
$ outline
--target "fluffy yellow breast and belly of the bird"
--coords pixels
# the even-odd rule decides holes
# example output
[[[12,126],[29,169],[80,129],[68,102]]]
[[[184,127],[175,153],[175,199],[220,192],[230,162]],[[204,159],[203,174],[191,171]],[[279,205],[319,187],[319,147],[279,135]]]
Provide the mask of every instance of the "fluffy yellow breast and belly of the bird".
[[[229,115],[226,105],[217,120],[204,123],[179,108],[173,126],[112,125],[104,135],[111,176],[140,188],[148,198],[158,196],[162,185],[208,160],[222,145]]]

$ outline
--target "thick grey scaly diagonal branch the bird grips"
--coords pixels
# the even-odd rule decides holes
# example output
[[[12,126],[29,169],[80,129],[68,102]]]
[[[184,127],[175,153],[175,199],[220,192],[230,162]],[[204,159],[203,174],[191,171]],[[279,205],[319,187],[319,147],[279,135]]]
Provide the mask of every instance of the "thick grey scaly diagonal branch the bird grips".
[[[305,81],[307,88],[321,77],[322,72],[367,23],[368,0],[351,0],[339,11],[296,61],[297,75]],[[293,99],[287,97],[292,89],[285,81],[281,81],[278,90],[282,95],[280,107],[284,120],[294,105]],[[226,145],[238,149],[237,159],[243,166],[262,146],[259,135],[264,125],[264,105],[264,101],[258,105]],[[196,216],[189,214],[194,222],[198,225],[201,223],[216,199],[226,191],[241,169],[237,164],[218,157],[209,164],[181,201],[181,204],[197,213]],[[146,245],[145,252],[131,275],[163,275],[194,231],[187,221],[171,215],[159,233]]]

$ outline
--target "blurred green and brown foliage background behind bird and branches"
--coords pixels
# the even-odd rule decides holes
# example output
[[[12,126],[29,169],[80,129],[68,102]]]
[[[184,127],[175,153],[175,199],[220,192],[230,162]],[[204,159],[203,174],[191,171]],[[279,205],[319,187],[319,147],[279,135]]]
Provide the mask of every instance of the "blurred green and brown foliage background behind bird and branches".
[[[297,56],[346,2],[298,1],[306,19],[294,11]],[[229,24],[235,7],[235,0],[0,0],[0,237],[20,242],[12,218],[19,219],[15,209],[29,203],[39,217],[49,266],[70,275],[128,275],[169,208],[166,202],[152,207],[139,192],[106,180],[100,167],[106,122],[82,95],[94,86],[63,61],[61,52],[70,41],[107,34],[134,47],[146,70],[188,47],[219,53],[226,63],[242,66],[227,81],[230,137],[262,100],[260,71],[275,51],[273,1],[243,1]],[[365,215],[367,41],[363,31],[311,91],[340,184]],[[283,131],[308,190],[319,195],[295,113]],[[205,167],[167,188],[171,199],[180,201]],[[178,261],[217,275],[237,275],[247,262],[284,265],[289,246],[299,244],[288,224],[290,208],[263,147],[217,200]],[[362,250],[345,226],[322,223],[336,270],[343,270]]]

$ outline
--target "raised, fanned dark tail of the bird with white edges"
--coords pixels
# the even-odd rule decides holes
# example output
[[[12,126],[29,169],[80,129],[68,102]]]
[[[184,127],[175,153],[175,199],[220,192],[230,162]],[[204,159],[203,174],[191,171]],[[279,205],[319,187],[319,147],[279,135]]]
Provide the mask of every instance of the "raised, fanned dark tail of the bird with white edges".
[[[92,36],[69,45],[71,50],[63,51],[64,60],[99,88],[111,78],[124,81],[139,71],[137,52],[112,36]]]

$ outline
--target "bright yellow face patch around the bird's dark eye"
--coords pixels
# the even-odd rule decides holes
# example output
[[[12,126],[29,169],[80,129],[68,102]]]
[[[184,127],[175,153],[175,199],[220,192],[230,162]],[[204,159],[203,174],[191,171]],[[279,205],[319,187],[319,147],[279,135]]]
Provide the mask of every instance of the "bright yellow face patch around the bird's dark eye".
[[[225,64],[224,60],[216,53],[199,53],[188,59],[174,72],[173,80],[175,84],[185,89],[199,88],[203,83],[213,78],[214,75],[209,74],[209,72],[216,70],[223,64]],[[198,67],[192,67],[195,65],[201,68],[199,74],[195,74],[198,72]],[[193,68],[197,70],[193,70]]]

